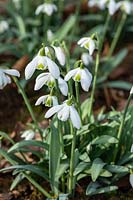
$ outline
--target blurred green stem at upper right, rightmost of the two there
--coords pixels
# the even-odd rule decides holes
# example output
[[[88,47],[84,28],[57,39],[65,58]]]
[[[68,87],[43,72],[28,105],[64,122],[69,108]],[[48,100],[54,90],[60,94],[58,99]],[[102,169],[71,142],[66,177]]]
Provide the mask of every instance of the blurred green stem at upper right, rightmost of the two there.
[[[110,50],[109,50],[109,55],[108,55],[108,57],[111,57],[111,56],[112,56],[112,54],[113,54],[113,52],[114,52],[114,50],[115,50],[115,48],[116,48],[117,42],[118,42],[118,40],[119,40],[119,37],[120,37],[121,31],[122,31],[122,29],[123,29],[123,26],[124,26],[124,24],[125,24],[126,19],[127,19],[127,14],[124,12],[124,13],[122,14],[120,23],[119,23],[119,25],[118,25],[118,27],[117,27],[117,30],[116,30],[116,33],[115,33],[115,35],[114,35],[114,39],[113,39],[113,41],[112,41],[112,44],[111,44],[111,47],[110,47]]]

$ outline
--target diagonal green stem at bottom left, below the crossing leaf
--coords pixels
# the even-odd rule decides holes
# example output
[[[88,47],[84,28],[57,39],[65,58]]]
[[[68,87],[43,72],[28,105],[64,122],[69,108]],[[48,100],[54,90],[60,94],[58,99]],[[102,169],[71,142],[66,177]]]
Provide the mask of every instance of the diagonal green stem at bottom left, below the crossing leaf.
[[[24,176],[30,181],[44,196],[46,196],[49,199],[52,199],[51,195],[42,188],[33,178],[31,178],[28,174],[24,173]]]

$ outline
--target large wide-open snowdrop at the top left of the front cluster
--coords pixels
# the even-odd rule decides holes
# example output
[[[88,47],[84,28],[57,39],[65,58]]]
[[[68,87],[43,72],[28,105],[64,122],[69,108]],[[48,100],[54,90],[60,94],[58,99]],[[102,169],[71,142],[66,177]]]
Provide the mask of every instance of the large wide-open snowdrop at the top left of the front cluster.
[[[55,62],[53,62],[48,56],[44,54],[44,48],[42,48],[37,56],[26,66],[25,78],[30,79],[36,69],[46,70],[52,74],[54,78],[59,78],[60,71]]]

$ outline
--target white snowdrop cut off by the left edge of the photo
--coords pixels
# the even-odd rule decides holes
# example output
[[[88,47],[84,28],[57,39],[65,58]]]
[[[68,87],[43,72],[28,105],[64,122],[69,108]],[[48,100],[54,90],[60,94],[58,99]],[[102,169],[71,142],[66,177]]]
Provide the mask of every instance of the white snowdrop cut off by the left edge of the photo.
[[[20,73],[15,69],[0,69],[0,89],[11,83],[9,75],[20,77]]]

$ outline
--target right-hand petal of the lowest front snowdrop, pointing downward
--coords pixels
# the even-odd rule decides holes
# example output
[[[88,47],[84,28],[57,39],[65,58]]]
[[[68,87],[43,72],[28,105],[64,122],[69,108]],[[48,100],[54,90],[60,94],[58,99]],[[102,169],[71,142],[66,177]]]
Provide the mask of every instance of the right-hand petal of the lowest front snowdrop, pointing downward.
[[[73,106],[70,106],[70,119],[72,121],[73,126],[77,129],[80,129],[81,127],[80,117],[77,110]]]

